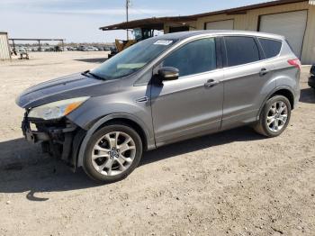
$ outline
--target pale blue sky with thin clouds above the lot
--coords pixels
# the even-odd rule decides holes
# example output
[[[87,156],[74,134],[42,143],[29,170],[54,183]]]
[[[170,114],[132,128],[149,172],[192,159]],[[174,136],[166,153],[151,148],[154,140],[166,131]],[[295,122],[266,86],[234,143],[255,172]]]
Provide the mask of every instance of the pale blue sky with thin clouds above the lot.
[[[268,0],[130,0],[130,20],[200,14]],[[125,21],[125,0],[0,0],[0,32],[11,38],[62,38],[67,42],[125,39],[99,27]]]

